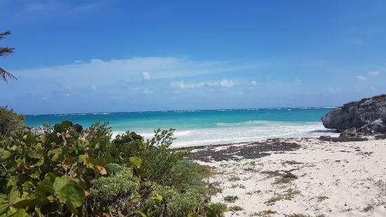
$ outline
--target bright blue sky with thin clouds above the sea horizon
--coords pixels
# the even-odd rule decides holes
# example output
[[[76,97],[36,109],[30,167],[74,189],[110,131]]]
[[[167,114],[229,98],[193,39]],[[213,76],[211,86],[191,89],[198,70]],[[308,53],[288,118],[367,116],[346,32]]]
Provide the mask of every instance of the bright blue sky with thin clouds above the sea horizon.
[[[0,0],[25,114],[338,106],[386,92],[386,1]],[[4,14],[5,13],[5,14]]]

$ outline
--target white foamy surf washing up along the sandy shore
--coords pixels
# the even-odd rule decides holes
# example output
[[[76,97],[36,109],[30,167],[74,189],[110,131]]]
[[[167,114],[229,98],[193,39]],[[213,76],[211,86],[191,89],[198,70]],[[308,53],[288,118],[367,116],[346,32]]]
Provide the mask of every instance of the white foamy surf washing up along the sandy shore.
[[[247,122],[248,123],[248,122]],[[174,136],[174,147],[183,146],[205,146],[215,144],[231,144],[247,141],[259,141],[269,138],[289,137],[320,137],[322,135],[336,136],[333,130],[326,130],[322,123],[275,123],[263,122],[263,126],[227,126],[218,128],[207,128],[200,130],[177,130]],[[113,132],[113,138],[123,132]],[[154,132],[137,132],[146,139],[154,136]]]

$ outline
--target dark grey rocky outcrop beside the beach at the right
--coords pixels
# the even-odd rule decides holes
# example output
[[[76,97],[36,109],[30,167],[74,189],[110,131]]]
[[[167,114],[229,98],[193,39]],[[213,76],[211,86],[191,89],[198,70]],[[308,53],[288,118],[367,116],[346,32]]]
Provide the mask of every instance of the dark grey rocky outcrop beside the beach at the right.
[[[324,127],[343,136],[386,132],[386,94],[350,102],[322,117]]]

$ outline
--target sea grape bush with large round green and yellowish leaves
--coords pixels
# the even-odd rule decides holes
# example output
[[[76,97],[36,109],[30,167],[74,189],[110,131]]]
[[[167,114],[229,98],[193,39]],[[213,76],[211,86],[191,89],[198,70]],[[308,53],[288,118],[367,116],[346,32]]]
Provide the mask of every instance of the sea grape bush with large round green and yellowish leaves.
[[[74,137],[79,133],[74,125],[63,122],[46,135],[25,131],[22,139],[1,139],[0,215],[90,212],[85,198],[90,195],[92,180],[106,175],[106,165],[117,160],[109,155],[90,157],[89,151],[100,144]],[[128,158],[127,162],[139,167],[140,159]]]

